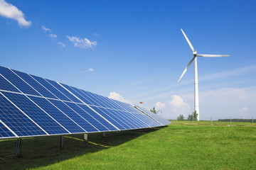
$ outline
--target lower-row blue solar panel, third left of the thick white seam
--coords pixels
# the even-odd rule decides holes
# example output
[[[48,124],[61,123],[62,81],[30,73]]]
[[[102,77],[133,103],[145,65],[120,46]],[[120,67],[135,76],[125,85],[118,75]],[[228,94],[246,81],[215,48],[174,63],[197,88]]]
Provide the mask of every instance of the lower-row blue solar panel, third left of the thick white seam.
[[[58,123],[63,125],[71,133],[85,132],[82,130],[73,120],[68,118],[67,115],[64,115],[61,111],[58,110],[53,104],[46,100],[46,98],[39,98],[34,96],[29,96],[38,106],[40,106],[43,111],[46,111],[50,116],[52,116]]]

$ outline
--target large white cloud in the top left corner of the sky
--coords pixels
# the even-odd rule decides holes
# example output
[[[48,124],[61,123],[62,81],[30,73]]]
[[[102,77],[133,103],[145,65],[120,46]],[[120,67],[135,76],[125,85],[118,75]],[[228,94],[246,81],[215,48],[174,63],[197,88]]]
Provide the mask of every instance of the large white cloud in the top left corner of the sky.
[[[5,0],[0,0],[0,15],[18,21],[19,26],[31,26],[31,21],[26,21],[24,13],[16,6],[8,4]]]

